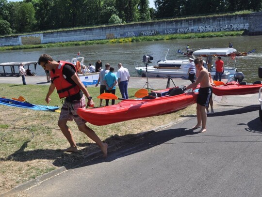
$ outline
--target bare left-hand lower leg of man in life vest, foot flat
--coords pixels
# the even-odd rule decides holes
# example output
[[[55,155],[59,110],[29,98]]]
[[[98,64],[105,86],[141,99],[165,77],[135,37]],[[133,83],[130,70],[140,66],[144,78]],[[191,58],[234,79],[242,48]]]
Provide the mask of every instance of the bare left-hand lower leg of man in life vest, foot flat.
[[[64,149],[64,152],[77,152],[77,146],[75,143],[75,140],[73,138],[72,132],[69,129],[69,127],[66,125],[67,120],[59,120],[58,121],[58,126],[61,129],[62,133],[66,137],[67,141],[70,144],[70,147],[67,149]]]

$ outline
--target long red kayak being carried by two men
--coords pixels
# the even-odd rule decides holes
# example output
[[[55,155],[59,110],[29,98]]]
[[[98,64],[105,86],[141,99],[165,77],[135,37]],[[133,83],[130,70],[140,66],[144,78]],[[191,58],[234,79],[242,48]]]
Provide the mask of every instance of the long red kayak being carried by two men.
[[[186,108],[197,101],[197,93],[182,93],[145,100],[123,100],[113,106],[99,108],[79,108],[77,114],[94,125],[162,115]]]

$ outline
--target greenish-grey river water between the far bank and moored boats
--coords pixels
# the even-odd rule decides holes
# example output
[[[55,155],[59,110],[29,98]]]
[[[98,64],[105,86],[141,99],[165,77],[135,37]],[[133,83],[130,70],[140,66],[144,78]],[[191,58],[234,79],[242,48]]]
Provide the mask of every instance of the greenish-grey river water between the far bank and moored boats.
[[[98,59],[103,63],[110,63],[111,66],[117,69],[117,63],[122,62],[123,66],[129,69],[131,76],[136,76],[134,69],[135,62],[138,61],[143,65],[143,55],[151,55],[154,60],[150,65],[156,65],[157,61],[164,60],[165,52],[169,49],[167,59],[187,59],[182,54],[177,53],[180,48],[181,51],[186,52],[187,44],[193,50],[208,47],[228,47],[229,42],[239,52],[247,52],[256,49],[254,53],[248,56],[236,57],[236,67],[238,72],[243,72],[245,81],[252,83],[256,80],[262,80],[258,77],[258,67],[262,66],[262,36],[233,36],[233,37],[219,37],[219,38],[198,38],[186,40],[167,40],[167,41],[150,41],[139,43],[123,43],[123,44],[108,44],[108,45],[87,45],[87,46],[71,46],[71,47],[52,47],[39,49],[23,49],[0,52],[0,63],[12,61],[38,61],[41,54],[47,53],[53,57],[54,60],[71,60],[76,58],[80,51],[80,57],[84,57],[85,64],[94,64]],[[227,65],[227,58],[222,57],[222,60]],[[233,66],[231,62],[229,66]],[[1,70],[2,68],[0,68]],[[37,65],[34,71],[33,66],[31,71],[37,76],[45,76],[45,72],[41,66]]]

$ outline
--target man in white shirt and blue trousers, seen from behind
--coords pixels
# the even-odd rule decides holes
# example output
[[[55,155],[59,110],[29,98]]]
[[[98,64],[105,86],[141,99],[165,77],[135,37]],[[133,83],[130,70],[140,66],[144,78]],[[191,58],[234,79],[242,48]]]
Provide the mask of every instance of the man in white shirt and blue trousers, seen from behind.
[[[116,77],[118,80],[119,90],[121,92],[122,98],[128,99],[128,82],[129,82],[129,71],[127,68],[124,68],[122,63],[118,63],[118,71]]]

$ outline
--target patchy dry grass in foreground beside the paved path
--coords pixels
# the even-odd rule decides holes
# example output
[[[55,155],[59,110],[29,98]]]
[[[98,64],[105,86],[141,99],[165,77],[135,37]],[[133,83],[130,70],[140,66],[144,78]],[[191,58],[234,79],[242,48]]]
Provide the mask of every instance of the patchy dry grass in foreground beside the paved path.
[[[49,86],[1,84],[1,97],[18,98],[23,96],[30,103],[47,105],[44,101]],[[129,89],[131,98],[138,89]],[[96,106],[99,104],[98,88],[88,88]],[[119,90],[116,95],[121,97]],[[118,103],[119,100],[116,100]],[[58,95],[51,95],[52,106],[62,106]],[[128,139],[143,131],[160,125],[176,122],[182,117],[193,116],[195,105],[175,113],[157,117],[95,126],[87,123],[97,135],[109,145],[119,142],[119,137]],[[61,149],[69,146],[57,121],[59,113],[34,111],[0,105],[0,194],[16,185],[35,179],[44,173],[81,159],[84,155],[98,151],[92,140],[82,134],[74,122],[68,126],[73,131],[78,145],[78,153],[64,153]],[[160,121],[161,120],[161,121]]]

